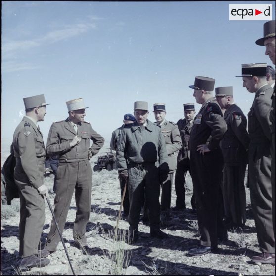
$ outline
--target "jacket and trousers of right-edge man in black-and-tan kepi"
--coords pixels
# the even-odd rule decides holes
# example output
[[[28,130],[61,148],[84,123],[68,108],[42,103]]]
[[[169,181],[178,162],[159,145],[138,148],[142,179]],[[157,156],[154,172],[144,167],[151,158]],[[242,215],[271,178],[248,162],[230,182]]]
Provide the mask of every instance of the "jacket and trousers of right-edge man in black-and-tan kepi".
[[[257,238],[262,252],[274,253],[270,155],[271,96],[269,85],[261,87],[248,113],[249,188]]]

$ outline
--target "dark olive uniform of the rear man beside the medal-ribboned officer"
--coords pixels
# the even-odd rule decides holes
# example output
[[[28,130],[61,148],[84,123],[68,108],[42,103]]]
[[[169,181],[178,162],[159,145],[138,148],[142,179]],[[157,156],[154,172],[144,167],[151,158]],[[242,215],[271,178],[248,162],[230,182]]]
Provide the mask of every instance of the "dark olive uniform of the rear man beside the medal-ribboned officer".
[[[186,190],[185,190],[185,176],[187,171],[190,172],[190,151],[188,148],[188,143],[185,139],[185,134],[190,134],[191,128],[193,126],[193,120],[190,122],[186,122],[186,119],[180,119],[177,122],[178,129],[180,132],[180,136],[182,139],[182,148],[179,150],[177,156],[177,169],[175,176],[175,189],[176,189],[176,207],[179,209],[186,209]],[[195,204],[195,196],[192,195],[191,198],[191,206],[193,209],[196,208]]]

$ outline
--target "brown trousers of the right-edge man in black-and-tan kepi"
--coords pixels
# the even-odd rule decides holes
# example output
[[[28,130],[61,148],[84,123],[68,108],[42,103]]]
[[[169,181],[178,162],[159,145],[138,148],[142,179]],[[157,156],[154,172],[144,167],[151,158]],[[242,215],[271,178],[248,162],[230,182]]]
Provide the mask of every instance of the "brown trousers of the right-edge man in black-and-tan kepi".
[[[256,147],[249,146],[249,189],[259,247],[262,252],[274,253],[272,222],[271,157],[265,152],[254,158]],[[264,150],[265,151],[265,150]],[[269,150],[268,150],[269,151]]]

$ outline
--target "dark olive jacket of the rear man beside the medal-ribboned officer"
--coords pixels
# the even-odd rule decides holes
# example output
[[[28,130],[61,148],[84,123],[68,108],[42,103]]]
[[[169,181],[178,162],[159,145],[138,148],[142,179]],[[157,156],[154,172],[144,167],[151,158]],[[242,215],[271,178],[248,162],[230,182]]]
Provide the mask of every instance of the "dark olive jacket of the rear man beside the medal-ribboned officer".
[[[178,125],[178,129],[180,132],[180,136],[181,136],[181,140],[182,140],[182,148],[180,149],[180,151],[178,152],[178,156],[177,156],[177,160],[182,160],[182,159],[186,159],[189,158],[189,154],[188,154],[188,143],[186,142],[185,139],[185,134],[190,134],[192,126],[193,126],[193,120],[191,120],[188,124],[186,119],[180,119],[177,122]]]

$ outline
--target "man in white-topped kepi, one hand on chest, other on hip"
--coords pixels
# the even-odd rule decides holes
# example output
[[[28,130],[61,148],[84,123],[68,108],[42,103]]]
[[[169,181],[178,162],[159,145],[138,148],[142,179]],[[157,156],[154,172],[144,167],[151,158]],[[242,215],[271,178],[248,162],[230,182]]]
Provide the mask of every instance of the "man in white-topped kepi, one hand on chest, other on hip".
[[[67,101],[66,104],[69,117],[51,125],[46,146],[47,154],[59,155],[54,215],[62,232],[75,190],[77,212],[73,237],[79,248],[87,248],[85,233],[90,217],[92,183],[89,159],[103,146],[104,138],[84,121],[88,107],[85,107],[82,98]],[[91,147],[90,140],[93,141]],[[46,249],[54,252],[59,241],[56,225],[52,221]]]

